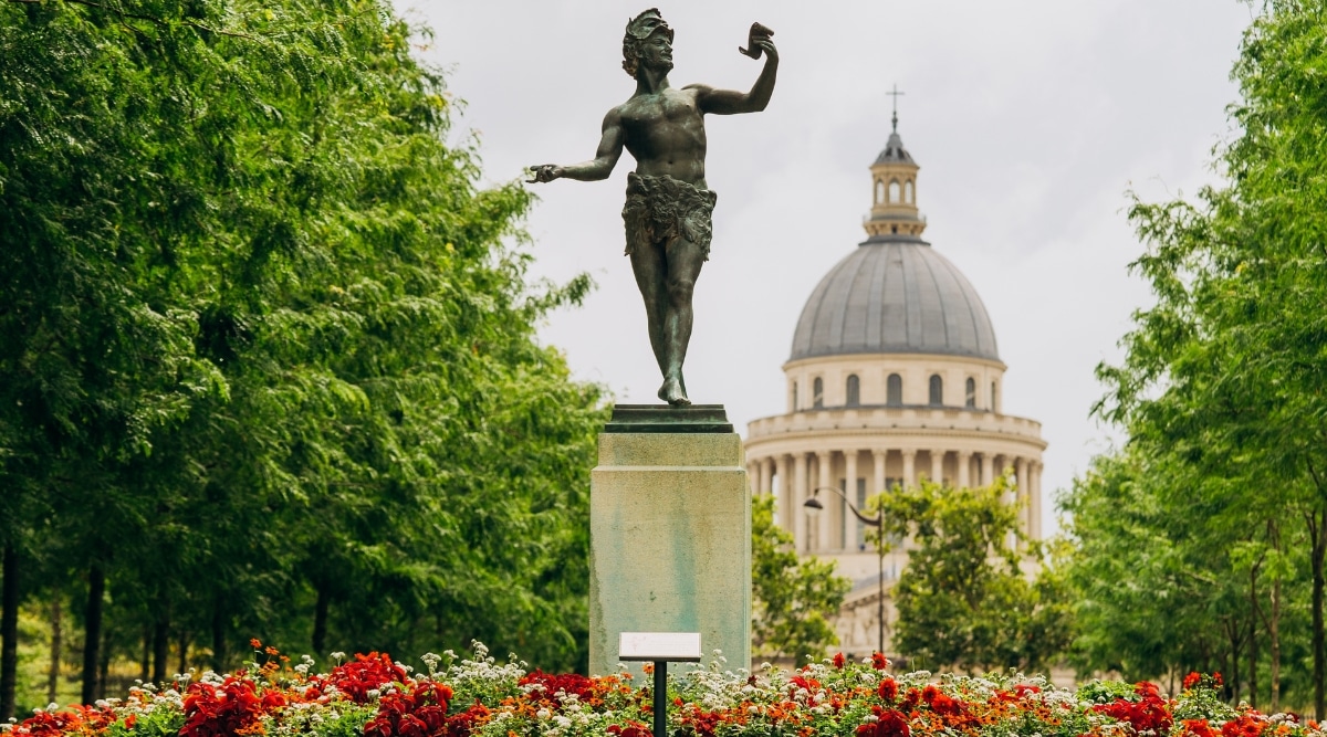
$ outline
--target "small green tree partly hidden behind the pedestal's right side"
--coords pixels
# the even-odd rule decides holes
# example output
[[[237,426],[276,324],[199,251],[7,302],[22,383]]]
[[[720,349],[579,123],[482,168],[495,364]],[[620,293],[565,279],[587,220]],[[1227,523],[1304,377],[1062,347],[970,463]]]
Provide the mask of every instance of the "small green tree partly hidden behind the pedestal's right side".
[[[774,521],[774,497],[751,502],[751,635],[764,657],[819,660],[839,642],[829,618],[839,612],[852,582],[835,574],[833,561],[799,557],[792,534]]]

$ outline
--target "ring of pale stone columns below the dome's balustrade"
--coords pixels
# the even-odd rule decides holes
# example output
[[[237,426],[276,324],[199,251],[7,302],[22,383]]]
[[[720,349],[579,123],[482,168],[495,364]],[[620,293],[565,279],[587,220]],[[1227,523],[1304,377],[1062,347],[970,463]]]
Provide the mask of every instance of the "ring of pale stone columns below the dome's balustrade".
[[[860,550],[859,524],[837,488],[860,508],[860,501],[894,485],[909,486],[921,477],[954,486],[990,484],[999,473],[1013,469],[1015,489],[1009,504],[1020,502],[1019,524],[1032,539],[1042,537],[1042,461],[1013,453],[945,449],[844,449],[755,455],[747,460],[751,490],[778,493],[775,520],[792,532],[799,553],[840,553]],[[803,504],[815,494],[824,512],[812,517]],[[1016,494],[1016,497],[1015,497]]]

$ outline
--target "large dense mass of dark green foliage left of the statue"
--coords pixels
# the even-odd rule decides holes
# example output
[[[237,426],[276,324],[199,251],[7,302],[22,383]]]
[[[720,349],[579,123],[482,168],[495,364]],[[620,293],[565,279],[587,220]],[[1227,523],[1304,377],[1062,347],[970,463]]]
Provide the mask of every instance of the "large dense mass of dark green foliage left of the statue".
[[[102,567],[117,656],[584,667],[602,396],[533,326],[589,282],[527,288],[531,198],[445,142],[418,33],[377,0],[0,4],[0,541],[66,591]]]

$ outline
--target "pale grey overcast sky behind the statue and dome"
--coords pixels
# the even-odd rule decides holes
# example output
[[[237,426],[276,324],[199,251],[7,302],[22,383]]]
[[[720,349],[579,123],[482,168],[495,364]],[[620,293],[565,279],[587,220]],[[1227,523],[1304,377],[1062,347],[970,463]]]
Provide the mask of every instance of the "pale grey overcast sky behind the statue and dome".
[[[648,0],[646,0],[648,1]],[[398,0],[435,37],[421,53],[466,101],[487,182],[525,164],[592,158],[630,97],[622,28],[640,3]],[[864,240],[868,167],[898,131],[921,166],[926,237],[981,293],[995,325],[1005,411],[1040,420],[1043,488],[1067,488],[1112,435],[1089,418],[1097,362],[1119,358],[1147,304],[1127,264],[1141,251],[1127,192],[1192,195],[1231,135],[1225,107],[1249,5],[1233,0],[660,1],[675,29],[670,80],[748,89],[751,21],[775,30],[770,107],[709,117],[714,247],[697,282],[686,362],[698,403],[734,424],[784,411],[780,366],[816,282]],[[588,272],[598,288],[552,315],[543,339],[620,402],[654,403],[660,375],[622,256],[624,155],[606,182],[539,186],[533,276]],[[1047,504],[1047,517],[1052,513]],[[1047,520],[1050,524],[1050,520]]]

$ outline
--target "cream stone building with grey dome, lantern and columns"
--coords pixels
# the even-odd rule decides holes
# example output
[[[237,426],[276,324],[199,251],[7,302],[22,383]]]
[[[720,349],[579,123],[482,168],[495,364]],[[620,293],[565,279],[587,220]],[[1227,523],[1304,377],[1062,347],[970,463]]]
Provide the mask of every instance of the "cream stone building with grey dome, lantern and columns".
[[[894,115],[871,166],[868,237],[820,280],[798,319],[783,365],[787,412],[747,425],[752,489],[776,494],[776,520],[799,553],[837,561],[855,582],[836,622],[839,650],[853,655],[874,651],[877,639],[888,652],[889,589],[906,550],[878,558],[847,501],[861,509],[876,492],[922,477],[978,486],[1010,469],[1023,530],[1042,536],[1042,425],[1001,411],[995,330],[962,272],[922,240],[918,168]],[[812,497],[816,514],[805,506]]]

